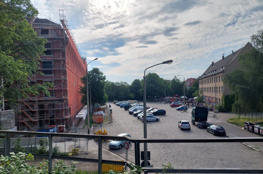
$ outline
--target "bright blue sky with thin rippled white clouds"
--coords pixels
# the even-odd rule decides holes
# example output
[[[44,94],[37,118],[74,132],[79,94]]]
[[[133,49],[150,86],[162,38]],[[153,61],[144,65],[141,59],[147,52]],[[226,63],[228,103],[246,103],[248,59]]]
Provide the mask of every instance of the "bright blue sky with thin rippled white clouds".
[[[59,9],[88,70],[97,67],[109,81],[143,79],[146,70],[171,80],[201,76],[250,42],[263,29],[262,0],[31,0],[38,18],[59,23]],[[62,13],[62,11],[60,11]],[[182,76],[177,78],[183,80]]]

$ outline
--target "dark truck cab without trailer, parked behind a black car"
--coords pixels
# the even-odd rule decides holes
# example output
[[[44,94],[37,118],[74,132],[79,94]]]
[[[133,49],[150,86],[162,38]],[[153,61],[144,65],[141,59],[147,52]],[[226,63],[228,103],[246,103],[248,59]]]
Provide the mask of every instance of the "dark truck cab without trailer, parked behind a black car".
[[[192,111],[192,124],[196,125],[198,128],[207,128],[211,123],[206,122],[208,117],[208,109],[203,106],[196,106]]]

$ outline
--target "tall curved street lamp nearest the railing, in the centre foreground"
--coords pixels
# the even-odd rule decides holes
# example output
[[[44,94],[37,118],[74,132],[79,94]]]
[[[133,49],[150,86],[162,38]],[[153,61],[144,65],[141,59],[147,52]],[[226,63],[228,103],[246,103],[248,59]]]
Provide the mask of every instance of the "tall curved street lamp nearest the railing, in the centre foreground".
[[[150,66],[146,69],[149,69],[151,67],[160,65],[160,64],[171,64],[173,63],[173,60],[169,60],[169,61],[164,61],[162,63],[158,63],[156,65]],[[144,76],[143,76],[143,138],[147,138],[147,117],[146,117],[146,76],[145,76],[145,71],[144,70]],[[148,162],[148,157],[147,157],[147,143],[143,144],[144,146],[144,166],[147,166],[147,162]]]

